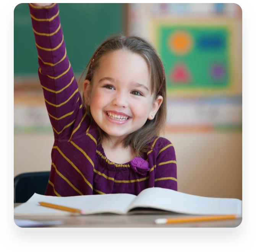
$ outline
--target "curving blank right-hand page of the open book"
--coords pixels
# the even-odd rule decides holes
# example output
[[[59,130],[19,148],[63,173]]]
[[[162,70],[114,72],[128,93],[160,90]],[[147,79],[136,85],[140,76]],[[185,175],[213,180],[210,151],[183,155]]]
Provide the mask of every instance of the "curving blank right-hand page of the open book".
[[[242,215],[240,199],[202,197],[160,187],[143,190],[128,211],[136,207],[152,207],[180,214]]]

